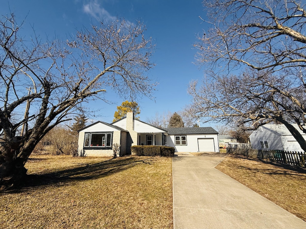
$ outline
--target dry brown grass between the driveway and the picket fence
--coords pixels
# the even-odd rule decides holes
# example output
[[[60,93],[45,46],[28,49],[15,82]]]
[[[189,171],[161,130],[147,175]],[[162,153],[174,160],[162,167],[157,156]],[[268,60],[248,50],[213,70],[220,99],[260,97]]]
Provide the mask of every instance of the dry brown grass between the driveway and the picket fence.
[[[227,157],[218,170],[306,221],[306,170],[251,158]]]

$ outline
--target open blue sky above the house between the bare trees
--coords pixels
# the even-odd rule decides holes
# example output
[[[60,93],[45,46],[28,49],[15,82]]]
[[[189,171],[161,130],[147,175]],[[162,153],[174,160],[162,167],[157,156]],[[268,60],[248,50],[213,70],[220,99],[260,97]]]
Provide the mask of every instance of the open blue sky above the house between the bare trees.
[[[141,19],[147,26],[145,36],[151,36],[156,44],[152,61],[156,64],[149,77],[157,80],[155,101],[143,98],[138,101],[140,119],[168,111],[181,111],[189,103],[187,94],[189,81],[201,79],[203,69],[193,64],[196,50],[193,44],[205,24],[199,19],[206,13],[201,0],[45,0],[2,1],[0,14],[14,12],[17,19],[26,17],[26,26],[34,27],[41,37],[65,39],[81,27],[90,27],[98,19],[124,17],[128,21]],[[94,118],[112,122],[117,105],[124,99],[107,92],[106,99],[115,104],[97,101],[94,104],[102,116]],[[208,126],[201,124],[200,126]]]

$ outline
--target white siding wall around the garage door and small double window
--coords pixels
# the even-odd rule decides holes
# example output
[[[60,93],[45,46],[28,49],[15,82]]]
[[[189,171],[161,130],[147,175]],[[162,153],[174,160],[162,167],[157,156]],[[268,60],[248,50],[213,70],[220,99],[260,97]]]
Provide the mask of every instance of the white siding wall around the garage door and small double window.
[[[179,135],[179,134],[178,134]],[[210,138],[214,140],[214,146],[211,146],[210,148],[215,149],[215,152],[219,152],[219,145],[218,145],[218,134],[181,134],[186,135],[187,139],[187,145],[186,146],[177,146],[175,145],[175,138],[174,136],[177,135],[168,135],[167,136],[167,145],[174,147],[175,152],[198,152],[199,151],[199,145],[198,145],[198,139],[200,138]]]

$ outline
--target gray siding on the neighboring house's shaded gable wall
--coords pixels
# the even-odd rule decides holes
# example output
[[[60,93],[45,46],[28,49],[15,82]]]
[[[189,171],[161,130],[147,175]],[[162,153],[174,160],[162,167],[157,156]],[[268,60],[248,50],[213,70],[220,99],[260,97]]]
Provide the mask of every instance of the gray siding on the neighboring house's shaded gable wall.
[[[253,149],[262,149],[260,147],[260,141],[267,141],[269,148],[271,150],[284,150],[282,145],[281,136],[272,132],[264,127],[261,128],[262,131],[257,129],[250,135],[250,141]]]

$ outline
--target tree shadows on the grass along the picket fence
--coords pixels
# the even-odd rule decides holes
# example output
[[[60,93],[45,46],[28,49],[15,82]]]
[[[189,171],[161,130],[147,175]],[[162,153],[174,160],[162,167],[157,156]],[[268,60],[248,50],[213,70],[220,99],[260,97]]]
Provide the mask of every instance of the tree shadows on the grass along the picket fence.
[[[288,164],[278,164],[275,162],[269,162],[269,161],[264,161],[264,160],[259,160],[256,158],[247,158],[241,155],[231,155],[232,157],[236,157],[236,158],[242,158],[242,159],[246,159],[249,161],[256,161],[256,162],[261,162],[263,164],[266,165],[274,165],[275,167],[278,167],[279,169],[256,169],[256,171],[262,172],[262,173],[266,173],[266,174],[275,174],[275,175],[294,175],[294,176],[305,176],[306,177],[306,169],[299,167],[299,166],[294,166],[294,165],[288,165]],[[240,166],[241,168],[247,169],[247,170],[254,170],[253,168],[249,168],[246,166]],[[290,170],[293,173],[287,173],[286,171],[282,170],[282,169],[286,169],[286,170]],[[263,172],[265,171],[265,172]],[[300,175],[298,173],[303,173],[305,175]]]

